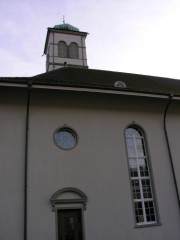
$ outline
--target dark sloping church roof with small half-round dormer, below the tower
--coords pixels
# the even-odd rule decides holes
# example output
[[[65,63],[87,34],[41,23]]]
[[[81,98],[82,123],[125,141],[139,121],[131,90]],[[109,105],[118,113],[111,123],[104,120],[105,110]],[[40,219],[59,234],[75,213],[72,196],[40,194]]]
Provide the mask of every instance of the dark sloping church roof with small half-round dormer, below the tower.
[[[27,83],[67,88],[111,90],[180,96],[180,81],[176,79],[95,69],[63,67],[33,77],[0,78],[2,83]]]

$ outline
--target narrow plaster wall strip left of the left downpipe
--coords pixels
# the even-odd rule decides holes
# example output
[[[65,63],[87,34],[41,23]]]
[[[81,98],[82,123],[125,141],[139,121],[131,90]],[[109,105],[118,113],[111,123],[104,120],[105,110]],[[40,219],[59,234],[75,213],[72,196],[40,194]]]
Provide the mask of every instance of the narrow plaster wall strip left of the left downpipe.
[[[0,239],[23,239],[25,92],[0,87]]]

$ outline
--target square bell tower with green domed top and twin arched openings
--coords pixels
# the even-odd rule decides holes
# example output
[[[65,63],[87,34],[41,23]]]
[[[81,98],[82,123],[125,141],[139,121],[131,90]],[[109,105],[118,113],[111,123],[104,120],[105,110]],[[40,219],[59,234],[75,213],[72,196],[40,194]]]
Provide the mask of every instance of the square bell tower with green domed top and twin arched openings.
[[[44,54],[46,72],[64,66],[88,68],[85,39],[88,33],[65,23],[48,28]]]

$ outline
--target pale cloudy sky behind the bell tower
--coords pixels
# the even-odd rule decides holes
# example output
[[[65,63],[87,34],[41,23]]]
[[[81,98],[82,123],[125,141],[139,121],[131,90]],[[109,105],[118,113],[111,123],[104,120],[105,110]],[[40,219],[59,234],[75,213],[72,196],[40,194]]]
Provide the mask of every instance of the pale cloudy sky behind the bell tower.
[[[180,0],[0,2],[0,76],[45,72],[48,27],[88,32],[89,68],[180,79]]]

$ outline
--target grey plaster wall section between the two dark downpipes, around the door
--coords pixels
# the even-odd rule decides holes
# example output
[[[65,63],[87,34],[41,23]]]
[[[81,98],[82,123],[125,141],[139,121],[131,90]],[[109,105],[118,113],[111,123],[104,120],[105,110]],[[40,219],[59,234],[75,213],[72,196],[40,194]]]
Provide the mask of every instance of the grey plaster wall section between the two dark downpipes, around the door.
[[[50,197],[64,187],[88,196],[86,240],[179,240],[180,218],[163,132],[166,102],[157,99],[33,90],[29,142],[29,239],[56,239]],[[147,135],[160,226],[135,228],[124,143],[132,122]],[[79,143],[60,150],[53,133],[64,124]]]

